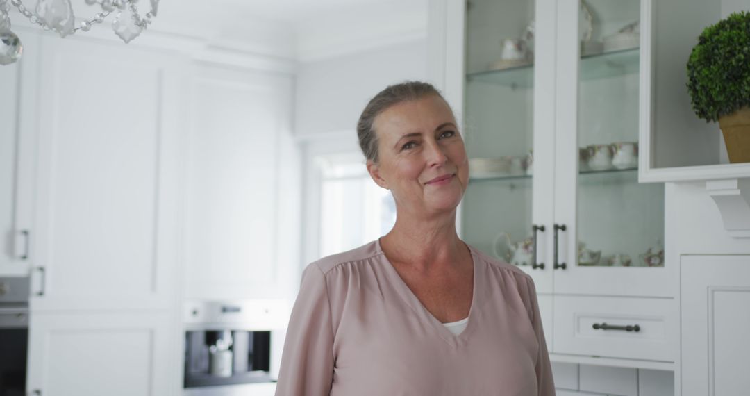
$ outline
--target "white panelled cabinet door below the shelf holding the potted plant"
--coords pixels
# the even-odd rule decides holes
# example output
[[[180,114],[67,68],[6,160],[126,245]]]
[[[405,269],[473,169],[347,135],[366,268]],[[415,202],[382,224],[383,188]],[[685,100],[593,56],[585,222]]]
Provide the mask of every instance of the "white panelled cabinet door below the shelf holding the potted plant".
[[[750,389],[750,255],[682,255],[683,396]]]

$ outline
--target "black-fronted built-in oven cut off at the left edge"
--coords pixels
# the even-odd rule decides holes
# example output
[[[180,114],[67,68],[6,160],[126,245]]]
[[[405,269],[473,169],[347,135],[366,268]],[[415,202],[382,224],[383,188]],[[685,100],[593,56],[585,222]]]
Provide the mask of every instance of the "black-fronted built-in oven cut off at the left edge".
[[[28,278],[0,278],[0,396],[26,395]]]

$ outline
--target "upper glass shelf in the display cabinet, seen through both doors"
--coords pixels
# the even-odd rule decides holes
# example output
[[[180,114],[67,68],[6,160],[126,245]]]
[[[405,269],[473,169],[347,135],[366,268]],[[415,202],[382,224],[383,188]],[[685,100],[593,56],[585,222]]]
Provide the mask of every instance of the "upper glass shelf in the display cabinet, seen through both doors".
[[[640,48],[587,54],[581,57],[581,80],[597,80],[618,77],[638,72]],[[514,88],[531,88],[534,81],[533,64],[519,65],[491,71],[479,71],[466,75],[469,82],[492,83]]]

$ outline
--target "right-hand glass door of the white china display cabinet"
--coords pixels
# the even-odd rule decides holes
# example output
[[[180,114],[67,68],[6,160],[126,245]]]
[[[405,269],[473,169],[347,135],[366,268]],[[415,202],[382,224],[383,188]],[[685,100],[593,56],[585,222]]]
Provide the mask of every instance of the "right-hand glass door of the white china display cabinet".
[[[555,226],[561,244],[566,234],[559,260],[568,261],[555,275],[555,289],[663,293],[664,287],[648,290],[648,282],[641,282],[653,280],[653,267],[663,273],[658,269],[664,268],[664,186],[638,183],[640,1],[579,0],[577,10],[563,12],[577,15],[577,26],[568,26],[577,28],[577,48],[572,46],[577,109],[571,124],[577,146],[559,149],[573,156],[569,164],[577,172],[570,191],[574,223]]]

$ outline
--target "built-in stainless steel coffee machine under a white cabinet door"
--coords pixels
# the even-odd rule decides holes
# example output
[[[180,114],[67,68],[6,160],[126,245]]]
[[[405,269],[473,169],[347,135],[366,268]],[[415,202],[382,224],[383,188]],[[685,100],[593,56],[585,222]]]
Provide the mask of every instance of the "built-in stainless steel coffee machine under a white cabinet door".
[[[273,300],[188,302],[184,395],[247,395],[251,384],[272,383],[272,344],[283,342],[274,340],[285,320],[282,308]]]

